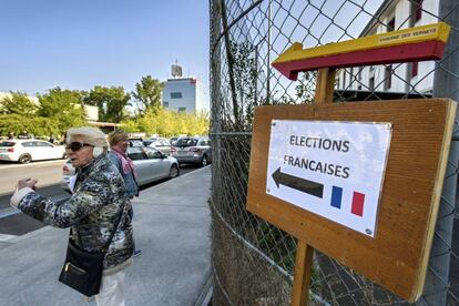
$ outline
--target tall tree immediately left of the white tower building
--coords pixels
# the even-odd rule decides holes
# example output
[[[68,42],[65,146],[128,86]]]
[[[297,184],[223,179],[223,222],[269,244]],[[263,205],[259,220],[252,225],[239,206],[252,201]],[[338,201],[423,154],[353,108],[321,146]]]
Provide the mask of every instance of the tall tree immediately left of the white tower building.
[[[164,84],[151,75],[143,76],[135,83],[135,91],[132,92],[136,101],[139,112],[142,114],[149,109],[157,111],[162,106],[161,93]]]

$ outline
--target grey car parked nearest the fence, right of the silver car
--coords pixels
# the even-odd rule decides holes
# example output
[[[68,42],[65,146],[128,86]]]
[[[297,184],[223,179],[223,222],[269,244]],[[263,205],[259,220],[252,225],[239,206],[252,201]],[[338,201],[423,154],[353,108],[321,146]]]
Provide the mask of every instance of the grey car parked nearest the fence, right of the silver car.
[[[207,137],[181,137],[171,147],[171,155],[178,163],[198,163],[205,166],[212,162],[211,141]]]

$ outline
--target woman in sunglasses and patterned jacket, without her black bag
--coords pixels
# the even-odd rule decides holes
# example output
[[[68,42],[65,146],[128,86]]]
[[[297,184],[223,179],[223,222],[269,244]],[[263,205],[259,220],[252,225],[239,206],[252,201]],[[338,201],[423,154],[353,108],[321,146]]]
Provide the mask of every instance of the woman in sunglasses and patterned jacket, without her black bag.
[[[76,169],[72,196],[54,203],[35,191],[37,180],[20,180],[11,205],[48,225],[71,227],[74,244],[88,252],[101,251],[116,231],[95,300],[98,305],[124,305],[124,271],[132,263],[134,238],[123,177],[108,159],[108,142],[99,129],[70,129],[65,149]],[[113,228],[120,213],[121,221]]]

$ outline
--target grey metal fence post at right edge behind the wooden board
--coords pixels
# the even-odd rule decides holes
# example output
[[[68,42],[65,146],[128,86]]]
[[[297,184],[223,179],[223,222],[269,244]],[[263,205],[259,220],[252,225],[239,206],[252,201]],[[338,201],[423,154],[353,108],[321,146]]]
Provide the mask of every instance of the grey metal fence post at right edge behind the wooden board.
[[[445,59],[437,63],[434,80],[434,96],[451,98],[459,101],[459,6],[457,0],[439,1],[439,19],[451,26]],[[456,115],[458,118],[458,115]],[[458,126],[455,124],[455,134]],[[457,188],[459,142],[452,142],[443,183],[436,235],[430,253],[429,269],[426,278],[425,295],[419,304],[447,305],[449,271],[451,261],[452,228]]]

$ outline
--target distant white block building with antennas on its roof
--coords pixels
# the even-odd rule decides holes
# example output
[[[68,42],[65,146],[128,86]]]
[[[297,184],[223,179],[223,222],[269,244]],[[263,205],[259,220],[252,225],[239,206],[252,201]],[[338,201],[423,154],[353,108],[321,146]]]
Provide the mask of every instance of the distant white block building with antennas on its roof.
[[[204,86],[195,78],[175,78],[164,82],[163,106],[177,112],[207,111]]]

